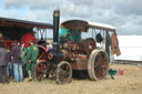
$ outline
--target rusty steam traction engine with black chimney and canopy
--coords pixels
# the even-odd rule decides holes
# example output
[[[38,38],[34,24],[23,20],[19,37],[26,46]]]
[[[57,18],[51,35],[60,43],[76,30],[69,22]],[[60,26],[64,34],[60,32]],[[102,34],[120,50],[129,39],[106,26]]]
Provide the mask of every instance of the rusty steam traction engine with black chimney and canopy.
[[[55,75],[58,84],[71,82],[72,71],[88,71],[91,80],[103,80],[109,70],[108,54],[97,49],[94,39],[81,40],[81,32],[89,28],[115,31],[111,27],[98,27],[82,20],[69,20],[61,24],[59,33],[60,12],[53,13],[53,49],[45,53],[47,61],[40,61],[36,66],[36,77],[41,81]]]

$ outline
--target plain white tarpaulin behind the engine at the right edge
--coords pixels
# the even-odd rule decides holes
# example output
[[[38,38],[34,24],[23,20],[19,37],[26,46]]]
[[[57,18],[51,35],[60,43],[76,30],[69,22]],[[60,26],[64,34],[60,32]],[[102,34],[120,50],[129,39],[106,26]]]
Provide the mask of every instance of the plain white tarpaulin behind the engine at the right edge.
[[[142,61],[142,35],[118,35],[121,55],[114,60]]]

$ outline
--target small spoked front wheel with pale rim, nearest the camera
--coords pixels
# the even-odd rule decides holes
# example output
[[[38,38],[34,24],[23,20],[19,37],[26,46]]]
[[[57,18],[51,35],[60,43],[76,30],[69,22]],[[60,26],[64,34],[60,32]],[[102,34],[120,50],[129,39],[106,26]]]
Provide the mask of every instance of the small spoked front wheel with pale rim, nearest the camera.
[[[71,82],[72,69],[71,65],[62,61],[57,66],[57,83],[58,84],[68,84]]]

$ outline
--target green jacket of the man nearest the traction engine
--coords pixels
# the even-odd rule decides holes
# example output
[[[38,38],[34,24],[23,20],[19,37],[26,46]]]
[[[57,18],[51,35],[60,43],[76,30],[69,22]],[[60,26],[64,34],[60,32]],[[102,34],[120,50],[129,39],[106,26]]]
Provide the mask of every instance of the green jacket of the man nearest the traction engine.
[[[29,46],[28,60],[31,60],[32,63],[36,63],[38,55],[39,55],[39,48],[37,48],[36,45]]]

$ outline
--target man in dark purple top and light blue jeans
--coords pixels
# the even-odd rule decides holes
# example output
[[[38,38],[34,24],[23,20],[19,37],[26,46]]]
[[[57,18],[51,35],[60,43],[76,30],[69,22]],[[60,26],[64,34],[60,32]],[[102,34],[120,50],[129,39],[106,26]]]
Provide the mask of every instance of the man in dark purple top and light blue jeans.
[[[20,46],[18,45],[18,41],[14,41],[14,45],[11,50],[11,59],[13,62],[14,82],[22,81],[22,60],[20,58]]]

